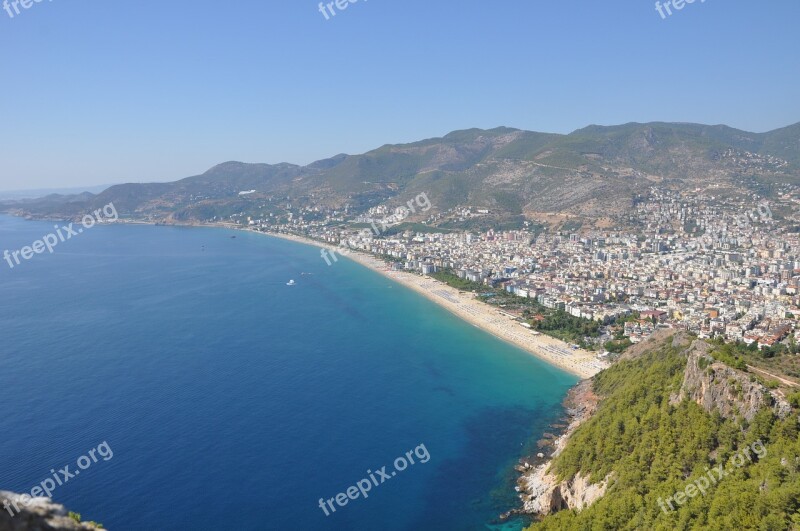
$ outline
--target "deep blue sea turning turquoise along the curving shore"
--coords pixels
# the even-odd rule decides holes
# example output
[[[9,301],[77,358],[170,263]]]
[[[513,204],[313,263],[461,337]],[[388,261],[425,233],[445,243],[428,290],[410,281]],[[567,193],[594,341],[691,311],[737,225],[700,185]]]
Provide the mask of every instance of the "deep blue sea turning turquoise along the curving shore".
[[[0,217],[0,252],[52,231]],[[98,226],[0,262],[0,338],[0,489],[107,441],[53,497],[112,530],[485,529],[576,382],[358,264],[222,229]]]

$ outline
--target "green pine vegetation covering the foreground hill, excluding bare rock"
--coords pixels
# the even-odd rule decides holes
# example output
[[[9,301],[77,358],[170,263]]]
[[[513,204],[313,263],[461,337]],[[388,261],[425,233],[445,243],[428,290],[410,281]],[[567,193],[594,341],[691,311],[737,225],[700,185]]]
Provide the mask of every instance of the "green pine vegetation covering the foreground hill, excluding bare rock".
[[[561,478],[577,472],[598,482],[613,478],[606,494],[580,513],[562,511],[534,530],[761,529],[800,526],[800,441],[797,415],[780,420],[769,410],[747,423],[708,414],[693,401],[670,396],[686,364],[678,349],[661,348],[600,373],[595,391],[604,397],[553,463]],[[800,395],[800,393],[798,393]],[[792,396],[795,407],[800,396]],[[750,454],[741,467],[688,498],[675,510],[666,500],[707,474],[730,464],[746,446],[761,441],[766,452]]]

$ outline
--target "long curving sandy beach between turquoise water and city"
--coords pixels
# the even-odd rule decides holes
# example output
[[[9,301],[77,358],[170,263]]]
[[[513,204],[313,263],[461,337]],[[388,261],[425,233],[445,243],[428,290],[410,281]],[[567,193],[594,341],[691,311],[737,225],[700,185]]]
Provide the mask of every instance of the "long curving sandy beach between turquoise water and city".
[[[320,248],[336,247],[295,235],[252,232]],[[405,271],[392,271],[389,264],[373,255],[352,251],[346,258],[416,291],[481,330],[576,376],[590,378],[608,366],[598,360],[592,352],[572,349],[567,343],[543,334],[534,335],[519,322],[500,314],[494,306],[476,300],[472,293],[461,292],[430,277]]]

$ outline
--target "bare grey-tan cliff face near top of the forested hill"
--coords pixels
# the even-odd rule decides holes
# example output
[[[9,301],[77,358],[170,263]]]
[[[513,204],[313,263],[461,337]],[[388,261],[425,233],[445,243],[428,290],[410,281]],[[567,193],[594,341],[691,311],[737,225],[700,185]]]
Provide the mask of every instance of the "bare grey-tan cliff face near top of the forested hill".
[[[741,417],[753,420],[756,413],[772,408],[781,417],[791,413],[791,407],[780,395],[751,381],[750,375],[716,362],[707,354],[709,345],[695,341],[688,350],[683,385],[671,397],[672,403],[692,400],[709,413],[718,411],[724,418]]]

